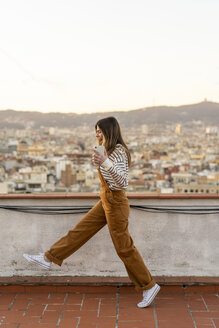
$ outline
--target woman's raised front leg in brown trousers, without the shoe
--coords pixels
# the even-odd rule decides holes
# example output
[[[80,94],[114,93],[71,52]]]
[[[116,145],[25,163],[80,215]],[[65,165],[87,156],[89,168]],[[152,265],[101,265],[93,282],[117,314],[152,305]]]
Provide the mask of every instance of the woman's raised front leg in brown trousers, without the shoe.
[[[105,224],[105,212],[100,200],[67,235],[45,252],[46,258],[61,266],[64,259],[77,251]]]

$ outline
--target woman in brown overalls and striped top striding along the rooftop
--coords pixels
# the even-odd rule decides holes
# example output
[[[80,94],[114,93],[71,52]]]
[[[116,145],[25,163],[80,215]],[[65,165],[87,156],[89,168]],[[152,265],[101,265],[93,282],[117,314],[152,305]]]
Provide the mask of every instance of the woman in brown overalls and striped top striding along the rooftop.
[[[99,202],[45,254],[24,254],[24,257],[45,269],[49,269],[52,262],[61,266],[64,259],[107,224],[129,278],[136,290],[143,291],[143,300],[138,303],[138,307],[147,307],[159,292],[160,286],[151,277],[128,231],[129,201],[125,189],[128,185],[130,153],[114,117],[99,120],[95,130],[98,145],[105,148],[104,154],[94,150],[92,156],[93,165],[98,166],[101,182]]]

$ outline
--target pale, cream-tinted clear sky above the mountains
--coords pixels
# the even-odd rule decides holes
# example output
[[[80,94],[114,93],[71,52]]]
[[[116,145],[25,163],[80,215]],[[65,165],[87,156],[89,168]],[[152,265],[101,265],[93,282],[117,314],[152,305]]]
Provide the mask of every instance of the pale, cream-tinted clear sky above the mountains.
[[[218,0],[0,1],[0,110],[219,102]]]

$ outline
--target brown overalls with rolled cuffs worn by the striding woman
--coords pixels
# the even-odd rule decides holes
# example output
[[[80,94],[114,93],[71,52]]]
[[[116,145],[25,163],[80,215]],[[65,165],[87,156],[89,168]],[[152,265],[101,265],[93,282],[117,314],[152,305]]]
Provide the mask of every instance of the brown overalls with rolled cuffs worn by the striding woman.
[[[101,200],[78,222],[74,229],[52,245],[45,255],[49,260],[61,266],[64,259],[77,251],[107,224],[116,252],[123,261],[136,290],[150,289],[155,285],[155,281],[134,246],[128,231],[129,201],[125,191],[111,190],[100,170],[98,173],[101,181]]]

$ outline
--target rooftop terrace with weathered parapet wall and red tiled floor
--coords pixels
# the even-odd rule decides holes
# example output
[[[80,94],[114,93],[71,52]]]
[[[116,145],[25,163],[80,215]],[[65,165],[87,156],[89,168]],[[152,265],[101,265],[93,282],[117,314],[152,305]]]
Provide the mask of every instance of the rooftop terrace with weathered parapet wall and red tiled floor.
[[[219,196],[128,196],[130,233],[161,285],[154,303],[136,307],[141,293],[127,278],[107,227],[62,268],[45,272],[23,259],[71,229],[83,216],[78,209],[87,211],[98,195],[1,195],[1,327],[219,327]]]

